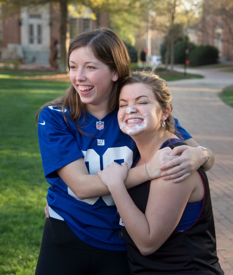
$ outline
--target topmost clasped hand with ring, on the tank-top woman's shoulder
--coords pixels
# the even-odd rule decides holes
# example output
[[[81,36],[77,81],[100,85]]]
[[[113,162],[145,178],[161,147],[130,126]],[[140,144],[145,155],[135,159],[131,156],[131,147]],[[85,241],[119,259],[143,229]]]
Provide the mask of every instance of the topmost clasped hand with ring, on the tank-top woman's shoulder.
[[[175,147],[170,155],[176,156],[178,154],[181,154],[178,158],[161,165],[160,170],[163,171],[171,168],[161,173],[164,180],[176,178],[174,180],[175,183],[183,181],[195,172],[205,162],[207,157],[207,152],[202,148],[190,147],[187,145]]]

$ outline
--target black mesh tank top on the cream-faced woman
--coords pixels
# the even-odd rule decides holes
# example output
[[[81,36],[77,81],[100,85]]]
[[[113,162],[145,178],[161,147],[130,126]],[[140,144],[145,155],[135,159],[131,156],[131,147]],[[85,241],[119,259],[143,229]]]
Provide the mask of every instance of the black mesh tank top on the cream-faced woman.
[[[171,149],[186,145],[179,140],[171,144],[171,140],[165,142],[162,148],[168,144]],[[216,236],[208,179],[202,167],[199,168],[198,172],[205,188],[203,209],[199,218],[187,230],[173,231],[167,241],[154,253],[147,256],[142,255],[126,228],[122,226],[122,221],[120,221],[121,231],[127,244],[130,274],[224,274],[216,252]],[[143,213],[146,210],[149,188],[150,181],[146,181],[129,190],[130,197]]]

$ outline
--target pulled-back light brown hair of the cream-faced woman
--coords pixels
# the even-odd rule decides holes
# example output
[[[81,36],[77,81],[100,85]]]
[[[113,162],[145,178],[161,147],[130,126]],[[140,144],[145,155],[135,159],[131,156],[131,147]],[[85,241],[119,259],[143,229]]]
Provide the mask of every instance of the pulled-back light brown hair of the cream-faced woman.
[[[147,71],[136,71],[132,74],[132,76],[126,77],[121,82],[122,89],[126,85],[134,84],[134,83],[142,83],[145,85],[149,85],[152,88],[152,91],[155,95],[155,98],[158,100],[158,103],[162,110],[167,107],[173,109],[171,103],[171,93],[167,89],[167,82],[160,78],[158,75],[154,74],[155,68],[151,72]],[[174,126],[174,119],[171,113],[168,115],[165,122],[165,129],[171,133],[174,133],[175,126]]]

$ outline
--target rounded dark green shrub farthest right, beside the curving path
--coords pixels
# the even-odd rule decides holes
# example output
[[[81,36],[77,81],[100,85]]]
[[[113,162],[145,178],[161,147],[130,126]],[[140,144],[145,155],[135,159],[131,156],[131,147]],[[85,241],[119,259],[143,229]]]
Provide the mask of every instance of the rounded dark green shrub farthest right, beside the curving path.
[[[218,62],[218,49],[209,45],[197,46],[189,54],[191,66],[209,65]]]

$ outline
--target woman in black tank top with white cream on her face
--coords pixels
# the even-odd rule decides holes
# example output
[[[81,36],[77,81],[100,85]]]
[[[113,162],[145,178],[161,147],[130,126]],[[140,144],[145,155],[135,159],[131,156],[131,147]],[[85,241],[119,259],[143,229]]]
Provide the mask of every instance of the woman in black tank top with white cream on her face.
[[[175,133],[171,110],[167,83],[153,71],[126,77],[119,96],[118,122],[137,145],[133,167],[144,164],[148,179],[126,190],[126,162],[111,163],[98,175],[119,212],[131,275],[222,275],[203,168],[179,184],[162,177],[152,180],[146,170],[146,164],[161,149],[185,144]]]

